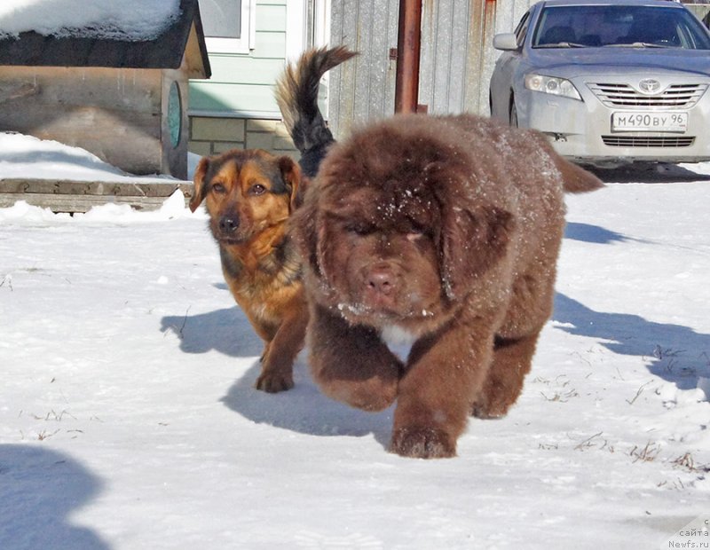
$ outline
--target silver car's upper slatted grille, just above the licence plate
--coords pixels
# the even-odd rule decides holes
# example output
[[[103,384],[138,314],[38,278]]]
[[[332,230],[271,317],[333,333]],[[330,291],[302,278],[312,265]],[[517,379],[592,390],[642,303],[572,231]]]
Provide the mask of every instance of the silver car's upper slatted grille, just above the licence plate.
[[[628,84],[589,83],[605,106],[610,107],[684,107],[698,103],[707,90],[707,84],[672,84],[655,96],[643,95]]]

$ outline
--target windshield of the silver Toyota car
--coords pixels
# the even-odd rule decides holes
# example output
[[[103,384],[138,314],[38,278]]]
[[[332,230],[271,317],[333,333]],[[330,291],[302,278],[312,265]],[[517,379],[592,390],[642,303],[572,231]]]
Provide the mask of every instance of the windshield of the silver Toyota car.
[[[561,5],[540,13],[533,48],[602,46],[710,50],[710,35],[676,7]]]

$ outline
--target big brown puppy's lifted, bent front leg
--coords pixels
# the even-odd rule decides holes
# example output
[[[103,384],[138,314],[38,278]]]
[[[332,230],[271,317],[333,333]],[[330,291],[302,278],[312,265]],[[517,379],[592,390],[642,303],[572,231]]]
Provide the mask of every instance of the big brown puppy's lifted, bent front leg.
[[[394,402],[402,364],[372,328],[314,304],[309,347],[313,378],[328,397],[366,411]]]

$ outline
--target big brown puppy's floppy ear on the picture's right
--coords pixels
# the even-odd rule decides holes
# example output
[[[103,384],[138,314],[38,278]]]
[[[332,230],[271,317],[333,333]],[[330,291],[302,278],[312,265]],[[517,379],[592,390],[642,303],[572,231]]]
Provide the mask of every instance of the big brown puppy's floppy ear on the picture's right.
[[[513,216],[493,205],[448,208],[439,238],[441,279],[449,300],[460,298],[470,282],[506,253]]]

